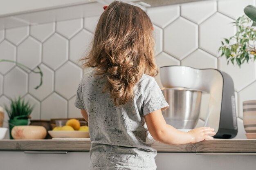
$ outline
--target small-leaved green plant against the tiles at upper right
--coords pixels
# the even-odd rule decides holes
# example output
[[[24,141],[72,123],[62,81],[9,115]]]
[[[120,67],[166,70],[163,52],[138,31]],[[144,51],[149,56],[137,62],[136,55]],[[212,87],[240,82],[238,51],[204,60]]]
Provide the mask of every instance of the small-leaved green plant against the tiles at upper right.
[[[241,67],[244,62],[256,60],[256,29],[251,27],[252,20],[247,16],[239,17],[233,22],[238,31],[230,38],[223,38],[219,52],[226,56],[227,64],[231,61]]]

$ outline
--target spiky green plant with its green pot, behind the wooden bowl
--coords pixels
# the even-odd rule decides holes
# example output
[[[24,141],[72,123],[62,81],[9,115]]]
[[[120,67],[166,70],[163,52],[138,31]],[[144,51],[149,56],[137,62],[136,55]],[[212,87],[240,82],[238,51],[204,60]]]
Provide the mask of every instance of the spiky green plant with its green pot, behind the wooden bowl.
[[[31,106],[29,102],[25,102],[24,99],[18,97],[18,99],[11,99],[10,107],[4,105],[4,109],[9,117],[9,134],[10,139],[13,139],[11,130],[14,126],[28,125],[31,112],[34,106]]]

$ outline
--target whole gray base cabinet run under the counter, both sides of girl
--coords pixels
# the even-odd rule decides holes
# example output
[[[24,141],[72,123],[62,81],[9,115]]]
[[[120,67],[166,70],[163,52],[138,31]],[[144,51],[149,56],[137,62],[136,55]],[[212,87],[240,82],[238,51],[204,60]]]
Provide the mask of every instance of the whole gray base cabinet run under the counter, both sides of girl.
[[[256,153],[158,152],[157,170],[254,170]],[[0,151],[0,170],[88,170],[89,152]]]

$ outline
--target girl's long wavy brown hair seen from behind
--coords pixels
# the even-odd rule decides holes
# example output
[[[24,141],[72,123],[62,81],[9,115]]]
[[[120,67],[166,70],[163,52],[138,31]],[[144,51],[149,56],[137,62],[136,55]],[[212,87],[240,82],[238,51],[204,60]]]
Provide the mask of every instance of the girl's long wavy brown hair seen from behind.
[[[133,87],[143,73],[157,75],[153,48],[152,22],[146,12],[114,1],[101,14],[92,48],[81,61],[107,77],[103,92],[109,90],[118,106],[134,97]]]

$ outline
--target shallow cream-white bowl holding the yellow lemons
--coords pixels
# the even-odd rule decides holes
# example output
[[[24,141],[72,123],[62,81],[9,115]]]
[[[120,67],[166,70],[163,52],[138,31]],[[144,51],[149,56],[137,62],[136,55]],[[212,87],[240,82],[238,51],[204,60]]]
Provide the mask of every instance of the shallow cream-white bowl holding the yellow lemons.
[[[49,130],[48,133],[54,138],[88,138],[89,132],[78,130]]]

